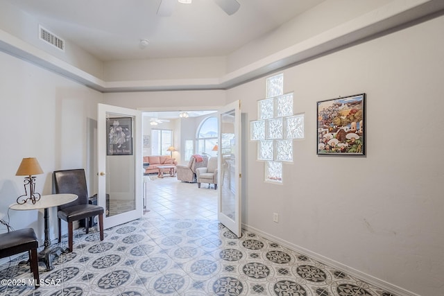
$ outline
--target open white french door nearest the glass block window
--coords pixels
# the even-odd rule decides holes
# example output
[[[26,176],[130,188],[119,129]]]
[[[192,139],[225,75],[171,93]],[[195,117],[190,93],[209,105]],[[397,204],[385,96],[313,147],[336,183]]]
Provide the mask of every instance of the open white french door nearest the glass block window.
[[[241,105],[234,101],[218,112],[218,219],[240,237],[241,231]]]

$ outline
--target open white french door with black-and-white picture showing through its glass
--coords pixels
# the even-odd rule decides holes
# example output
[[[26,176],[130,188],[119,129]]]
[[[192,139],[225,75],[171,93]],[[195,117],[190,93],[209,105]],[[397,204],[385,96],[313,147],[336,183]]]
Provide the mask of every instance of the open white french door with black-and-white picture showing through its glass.
[[[104,228],[142,217],[142,112],[97,107],[98,204]]]

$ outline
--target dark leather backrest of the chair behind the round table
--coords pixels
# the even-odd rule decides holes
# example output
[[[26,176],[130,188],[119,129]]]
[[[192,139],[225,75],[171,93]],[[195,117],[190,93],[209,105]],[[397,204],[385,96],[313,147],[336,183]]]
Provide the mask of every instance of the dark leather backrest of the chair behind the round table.
[[[88,203],[88,189],[86,184],[85,170],[78,168],[74,170],[54,171],[53,172],[54,188],[56,193],[73,193],[78,195],[74,202],[63,204],[58,209],[71,207],[75,204]]]

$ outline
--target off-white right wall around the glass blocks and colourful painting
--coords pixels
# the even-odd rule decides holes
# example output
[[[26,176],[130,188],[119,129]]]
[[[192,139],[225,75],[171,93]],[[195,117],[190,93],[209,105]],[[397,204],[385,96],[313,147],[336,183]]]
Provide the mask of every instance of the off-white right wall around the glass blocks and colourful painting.
[[[244,223],[419,295],[444,279],[444,17],[283,71],[305,139],[284,184],[264,180],[248,141]],[[366,92],[366,157],[316,155],[316,101]],[[248,120],[261,78],[228,91]],[[273,223],[273,212],[280,222]]]

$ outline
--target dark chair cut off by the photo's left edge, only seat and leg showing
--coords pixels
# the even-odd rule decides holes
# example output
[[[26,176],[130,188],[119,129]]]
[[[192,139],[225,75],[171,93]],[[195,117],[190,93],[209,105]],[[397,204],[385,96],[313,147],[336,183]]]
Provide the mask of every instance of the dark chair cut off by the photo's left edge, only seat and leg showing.
[[[0,234],[0,258],[28,252],[35,288],[40,286],[37,247],[39,247],[39,241],[37,241],[37,236],[32,228],[19,229]]]

